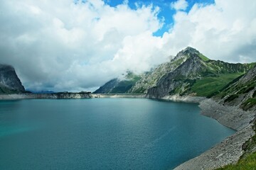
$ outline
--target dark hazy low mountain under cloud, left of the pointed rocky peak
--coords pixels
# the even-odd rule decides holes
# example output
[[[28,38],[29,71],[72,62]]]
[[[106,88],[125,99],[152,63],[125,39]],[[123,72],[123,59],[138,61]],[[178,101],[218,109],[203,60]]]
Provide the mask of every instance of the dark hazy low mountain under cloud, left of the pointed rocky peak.
[[[127,94],[129,89],[134,86],[134,84],[139,81],[141,77],[132,72],[127,72],[124,79],[112,79],[108,81],[99,89],[94,91],[94,94]]]

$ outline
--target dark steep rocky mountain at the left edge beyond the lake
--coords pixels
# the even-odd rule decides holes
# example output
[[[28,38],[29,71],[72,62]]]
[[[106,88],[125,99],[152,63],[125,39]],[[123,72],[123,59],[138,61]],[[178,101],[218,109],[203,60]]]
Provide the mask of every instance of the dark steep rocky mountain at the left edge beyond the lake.
[[[12,94],[25,91],[14,67],[0,64],[0,94]]]

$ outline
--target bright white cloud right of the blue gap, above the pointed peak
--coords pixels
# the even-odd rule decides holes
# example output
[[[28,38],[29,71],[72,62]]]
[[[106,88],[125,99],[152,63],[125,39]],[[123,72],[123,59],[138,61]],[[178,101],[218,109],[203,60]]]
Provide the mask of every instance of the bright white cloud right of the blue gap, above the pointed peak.
[[[165,38],[178,50],[189,45],[215,60],[255,62],[255,8],[256,1],[250,0],[195,4],[188,13],[175,14]]]

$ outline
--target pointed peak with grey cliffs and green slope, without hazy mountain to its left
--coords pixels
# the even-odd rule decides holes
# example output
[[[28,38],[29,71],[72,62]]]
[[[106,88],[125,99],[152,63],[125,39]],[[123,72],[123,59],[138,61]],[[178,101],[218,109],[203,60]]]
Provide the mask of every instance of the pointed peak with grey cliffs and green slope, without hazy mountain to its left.
[[[164,74],[157,81],[156,86],[148,89],[149,98],[174,94],[210,97],[255,66],[255,63],[231,64],[220,60],[209,60],[192,47],[179,52],[172,62],[178,60],[183,62],[176,69]]]

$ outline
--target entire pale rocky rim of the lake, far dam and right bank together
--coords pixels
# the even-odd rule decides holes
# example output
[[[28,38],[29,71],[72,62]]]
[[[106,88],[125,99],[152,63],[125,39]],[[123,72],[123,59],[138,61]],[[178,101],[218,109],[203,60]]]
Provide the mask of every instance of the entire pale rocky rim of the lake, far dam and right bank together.
[[[87,94],[87,93],[58,93],[58,94],[1,94],[0,100],[28,99],[28,98],[146,98],[146,95],[137,94]],[[205,97],[195,96],[165,96],[160,98],[166,101],[200,103],[201,114],[218,120],[219,123],[234,130],[234,135],[225,138],[218,145],[193,159],[177,166],[175,170],[215,169],[226,164],[238,162],[243,154],[242,145],[255,135],[252,129],[253,111],[242,111],[235,106],[222,104]]]

